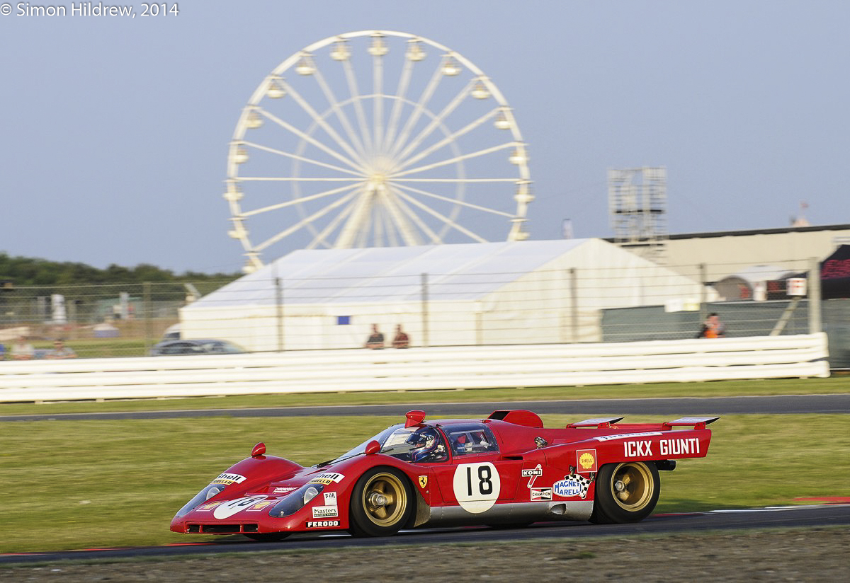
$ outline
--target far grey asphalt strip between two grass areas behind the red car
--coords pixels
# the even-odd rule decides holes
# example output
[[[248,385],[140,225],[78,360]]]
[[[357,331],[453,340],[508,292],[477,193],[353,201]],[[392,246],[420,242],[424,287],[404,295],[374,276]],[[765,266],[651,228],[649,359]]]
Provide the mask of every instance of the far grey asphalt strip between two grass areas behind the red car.
[[[669,397],[659,399],[590,399],[575,401],[484,401],[474,403],[410,403],[406,405],[292,406],[254,409],[192,409],[6,415],[0,421],[91,421],[94,419],[170,419],[203,417],[311,417],[388,415],[403,418],[411,409],[422,409],[428,418],[483,417],[499,409],[529,409],[563,415],[786,415],[850,413],[850,393],[839,395],[769,395],[735,397]]]

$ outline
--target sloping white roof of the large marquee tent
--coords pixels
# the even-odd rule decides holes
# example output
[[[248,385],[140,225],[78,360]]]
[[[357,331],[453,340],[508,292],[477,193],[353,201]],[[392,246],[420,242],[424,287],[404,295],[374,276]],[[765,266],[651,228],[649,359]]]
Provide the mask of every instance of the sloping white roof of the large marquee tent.
[[[475,300],[589,241],[628,253],[599,239],[301,249],[184,309],[273,304],[275,277],[286,304],[418,300],[423,273],[432,299]]]

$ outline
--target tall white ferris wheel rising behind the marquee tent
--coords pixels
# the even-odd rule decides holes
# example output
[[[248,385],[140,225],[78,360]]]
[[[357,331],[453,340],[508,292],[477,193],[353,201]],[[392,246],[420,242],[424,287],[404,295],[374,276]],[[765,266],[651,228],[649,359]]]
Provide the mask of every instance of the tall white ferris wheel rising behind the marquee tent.
[[[292,54],[242,109],[224,199],[245,271],[291,249],[519,241],[527,146],[490,78],[403,32]]]

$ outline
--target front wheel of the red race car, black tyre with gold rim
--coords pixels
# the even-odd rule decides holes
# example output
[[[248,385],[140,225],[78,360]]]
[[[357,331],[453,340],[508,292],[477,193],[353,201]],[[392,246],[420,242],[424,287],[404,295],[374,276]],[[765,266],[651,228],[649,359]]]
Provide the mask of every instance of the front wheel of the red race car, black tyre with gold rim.
[[[371,468],[360,476],[348,510],[354,536],[391,536],[416,512],[416,496],[407,476],[396,468]]]

